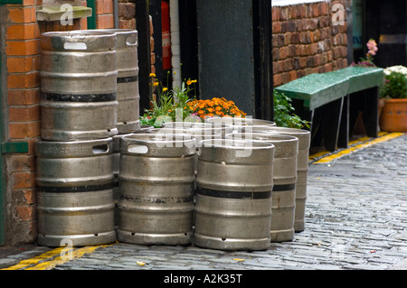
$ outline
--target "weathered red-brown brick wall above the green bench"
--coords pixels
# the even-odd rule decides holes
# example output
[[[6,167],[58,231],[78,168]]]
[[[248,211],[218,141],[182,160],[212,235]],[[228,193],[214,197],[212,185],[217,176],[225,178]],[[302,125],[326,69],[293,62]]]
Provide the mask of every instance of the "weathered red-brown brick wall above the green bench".
[[[273,81],[347,67],[346,23],[332,23],[332,5],[345,0],[272,7]]]

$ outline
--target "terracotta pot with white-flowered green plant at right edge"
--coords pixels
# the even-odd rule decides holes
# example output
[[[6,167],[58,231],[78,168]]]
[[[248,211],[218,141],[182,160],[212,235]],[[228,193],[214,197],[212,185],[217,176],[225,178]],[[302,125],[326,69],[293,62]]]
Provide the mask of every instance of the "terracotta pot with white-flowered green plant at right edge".
[[[384,99],[380,127],[387,132],[407,132],[407,68],[392,66],[384,69],[384,81],[379,97]]]

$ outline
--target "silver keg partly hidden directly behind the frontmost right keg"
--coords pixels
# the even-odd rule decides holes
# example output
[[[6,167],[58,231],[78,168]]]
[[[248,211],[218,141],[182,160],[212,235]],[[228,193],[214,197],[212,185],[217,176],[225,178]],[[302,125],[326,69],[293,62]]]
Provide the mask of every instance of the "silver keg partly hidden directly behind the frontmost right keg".
[[[273,144],[273,192],[270,241],[292,241],[295,237],[298,138],[289,135],[236,133],[227,138]]]

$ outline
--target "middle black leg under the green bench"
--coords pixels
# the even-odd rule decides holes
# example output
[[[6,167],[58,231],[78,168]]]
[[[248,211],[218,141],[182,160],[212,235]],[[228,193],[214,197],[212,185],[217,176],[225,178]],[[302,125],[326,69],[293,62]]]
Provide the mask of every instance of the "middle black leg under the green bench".
[[[339,136],[339,126],[344,107],[344,97],[328,103],[324,107],[323,137],[327,151],[335,151]]]

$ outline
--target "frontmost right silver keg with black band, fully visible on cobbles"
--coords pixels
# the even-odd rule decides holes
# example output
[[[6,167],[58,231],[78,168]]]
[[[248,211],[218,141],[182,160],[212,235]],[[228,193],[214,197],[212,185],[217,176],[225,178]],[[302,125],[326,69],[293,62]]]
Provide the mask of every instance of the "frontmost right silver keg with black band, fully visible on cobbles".
[[[274,146],[228,139],[199,148],[194,245],[220,250],[270,247]]]

